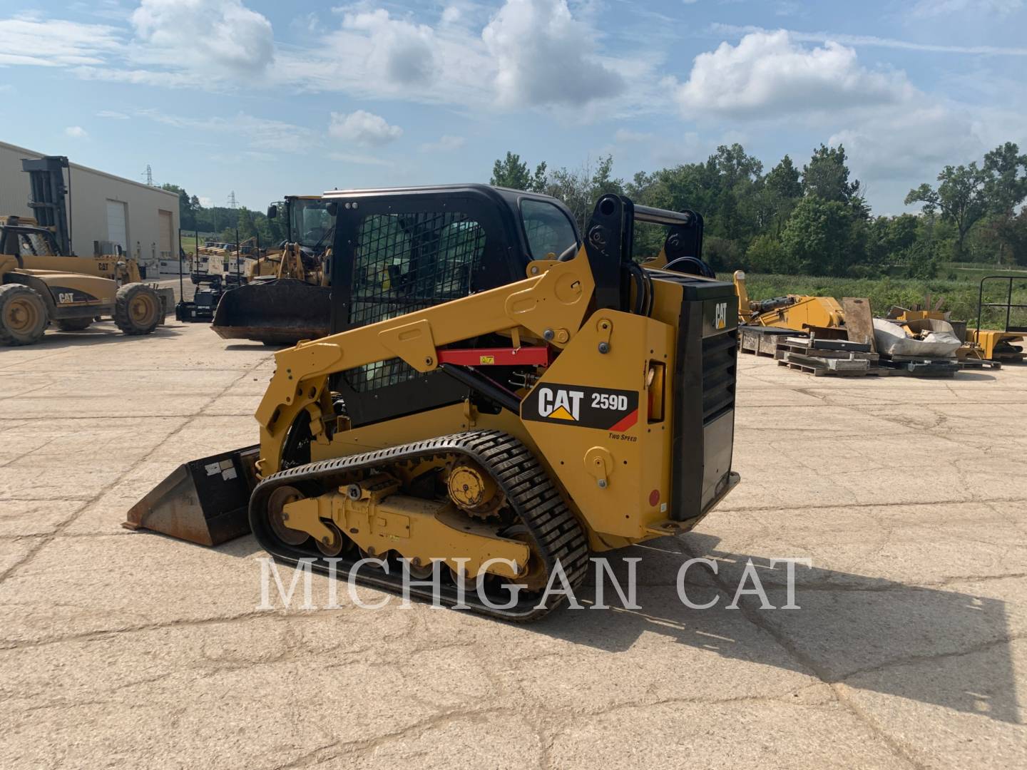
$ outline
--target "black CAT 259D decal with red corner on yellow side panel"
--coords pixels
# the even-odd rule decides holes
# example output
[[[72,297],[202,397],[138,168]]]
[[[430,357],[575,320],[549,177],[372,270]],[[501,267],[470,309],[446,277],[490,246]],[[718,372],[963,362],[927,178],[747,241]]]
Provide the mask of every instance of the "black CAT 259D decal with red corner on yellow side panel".
[[[525,420],[621,432],[638,422],[639,394],[635,390],[544,383],[525,398],[521,406],[521,417]]]

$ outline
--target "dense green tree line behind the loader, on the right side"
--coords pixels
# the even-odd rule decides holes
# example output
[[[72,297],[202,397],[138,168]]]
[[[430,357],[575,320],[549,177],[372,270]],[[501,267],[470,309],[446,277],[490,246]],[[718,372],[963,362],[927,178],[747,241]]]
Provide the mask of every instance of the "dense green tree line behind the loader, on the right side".
[[[684,163],[630,181],[614,178],[613,159],[581,168],[534,170],[507,152],[491,184],[554,195],[583,228],[592,205],[608,192],[637,203],[706,220],[703,256],[717,270],[875,277],[931,278],[941,262],[1027,266],[1027,154],[1007,142],[968,165],[945,166],[936,184],[911,190],[920,214],[874,217],[845,148],[821,145],[801,169],[791,157],[764,172],[741,145],[721,146],[705,162]],[[637,236],[652,249],[659,235]]]

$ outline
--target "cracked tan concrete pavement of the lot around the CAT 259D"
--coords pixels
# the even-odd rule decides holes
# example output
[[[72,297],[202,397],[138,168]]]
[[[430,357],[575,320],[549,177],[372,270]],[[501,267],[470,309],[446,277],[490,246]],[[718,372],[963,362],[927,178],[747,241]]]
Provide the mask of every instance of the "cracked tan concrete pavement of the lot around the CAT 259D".
[[[740,370],[743,484],[612,554],[642,557],[642,609],[517,626],[259,611],[251,537],[121,529],[178,463],[256,440],[266,348],[172,322],[0,349],[0,766],[1027,765],[1027,369]],[[679,600],[691,556],[712,609]],[[727,609],[748,560],[785,604],[775,556],[812,562],[801,609]]]

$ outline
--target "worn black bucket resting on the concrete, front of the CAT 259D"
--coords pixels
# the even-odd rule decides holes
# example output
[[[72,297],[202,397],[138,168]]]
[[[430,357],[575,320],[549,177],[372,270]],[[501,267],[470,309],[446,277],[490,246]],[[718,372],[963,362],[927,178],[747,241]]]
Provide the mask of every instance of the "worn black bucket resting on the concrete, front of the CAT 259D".
[[[199,545],[220,545],[245,535],[259,457],[258,445],[180,465],[129,509],[122,526]]]

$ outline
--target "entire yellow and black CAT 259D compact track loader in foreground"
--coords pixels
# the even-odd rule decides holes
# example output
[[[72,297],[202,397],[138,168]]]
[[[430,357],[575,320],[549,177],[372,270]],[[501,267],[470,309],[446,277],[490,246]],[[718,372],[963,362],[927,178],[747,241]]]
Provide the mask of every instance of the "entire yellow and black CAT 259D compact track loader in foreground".
[[[697,258],[694,213],[606,195],[582,238],[559,201],[481,185],[326,198],[333,334],[275,354],[259,446],[181,466],[127,527],[252,529],[286,563],[529,620],[566,599],[558,563],[576,587],[589,552],[686,532],[737,483],[733,287],[632,259],[639,221]]]

